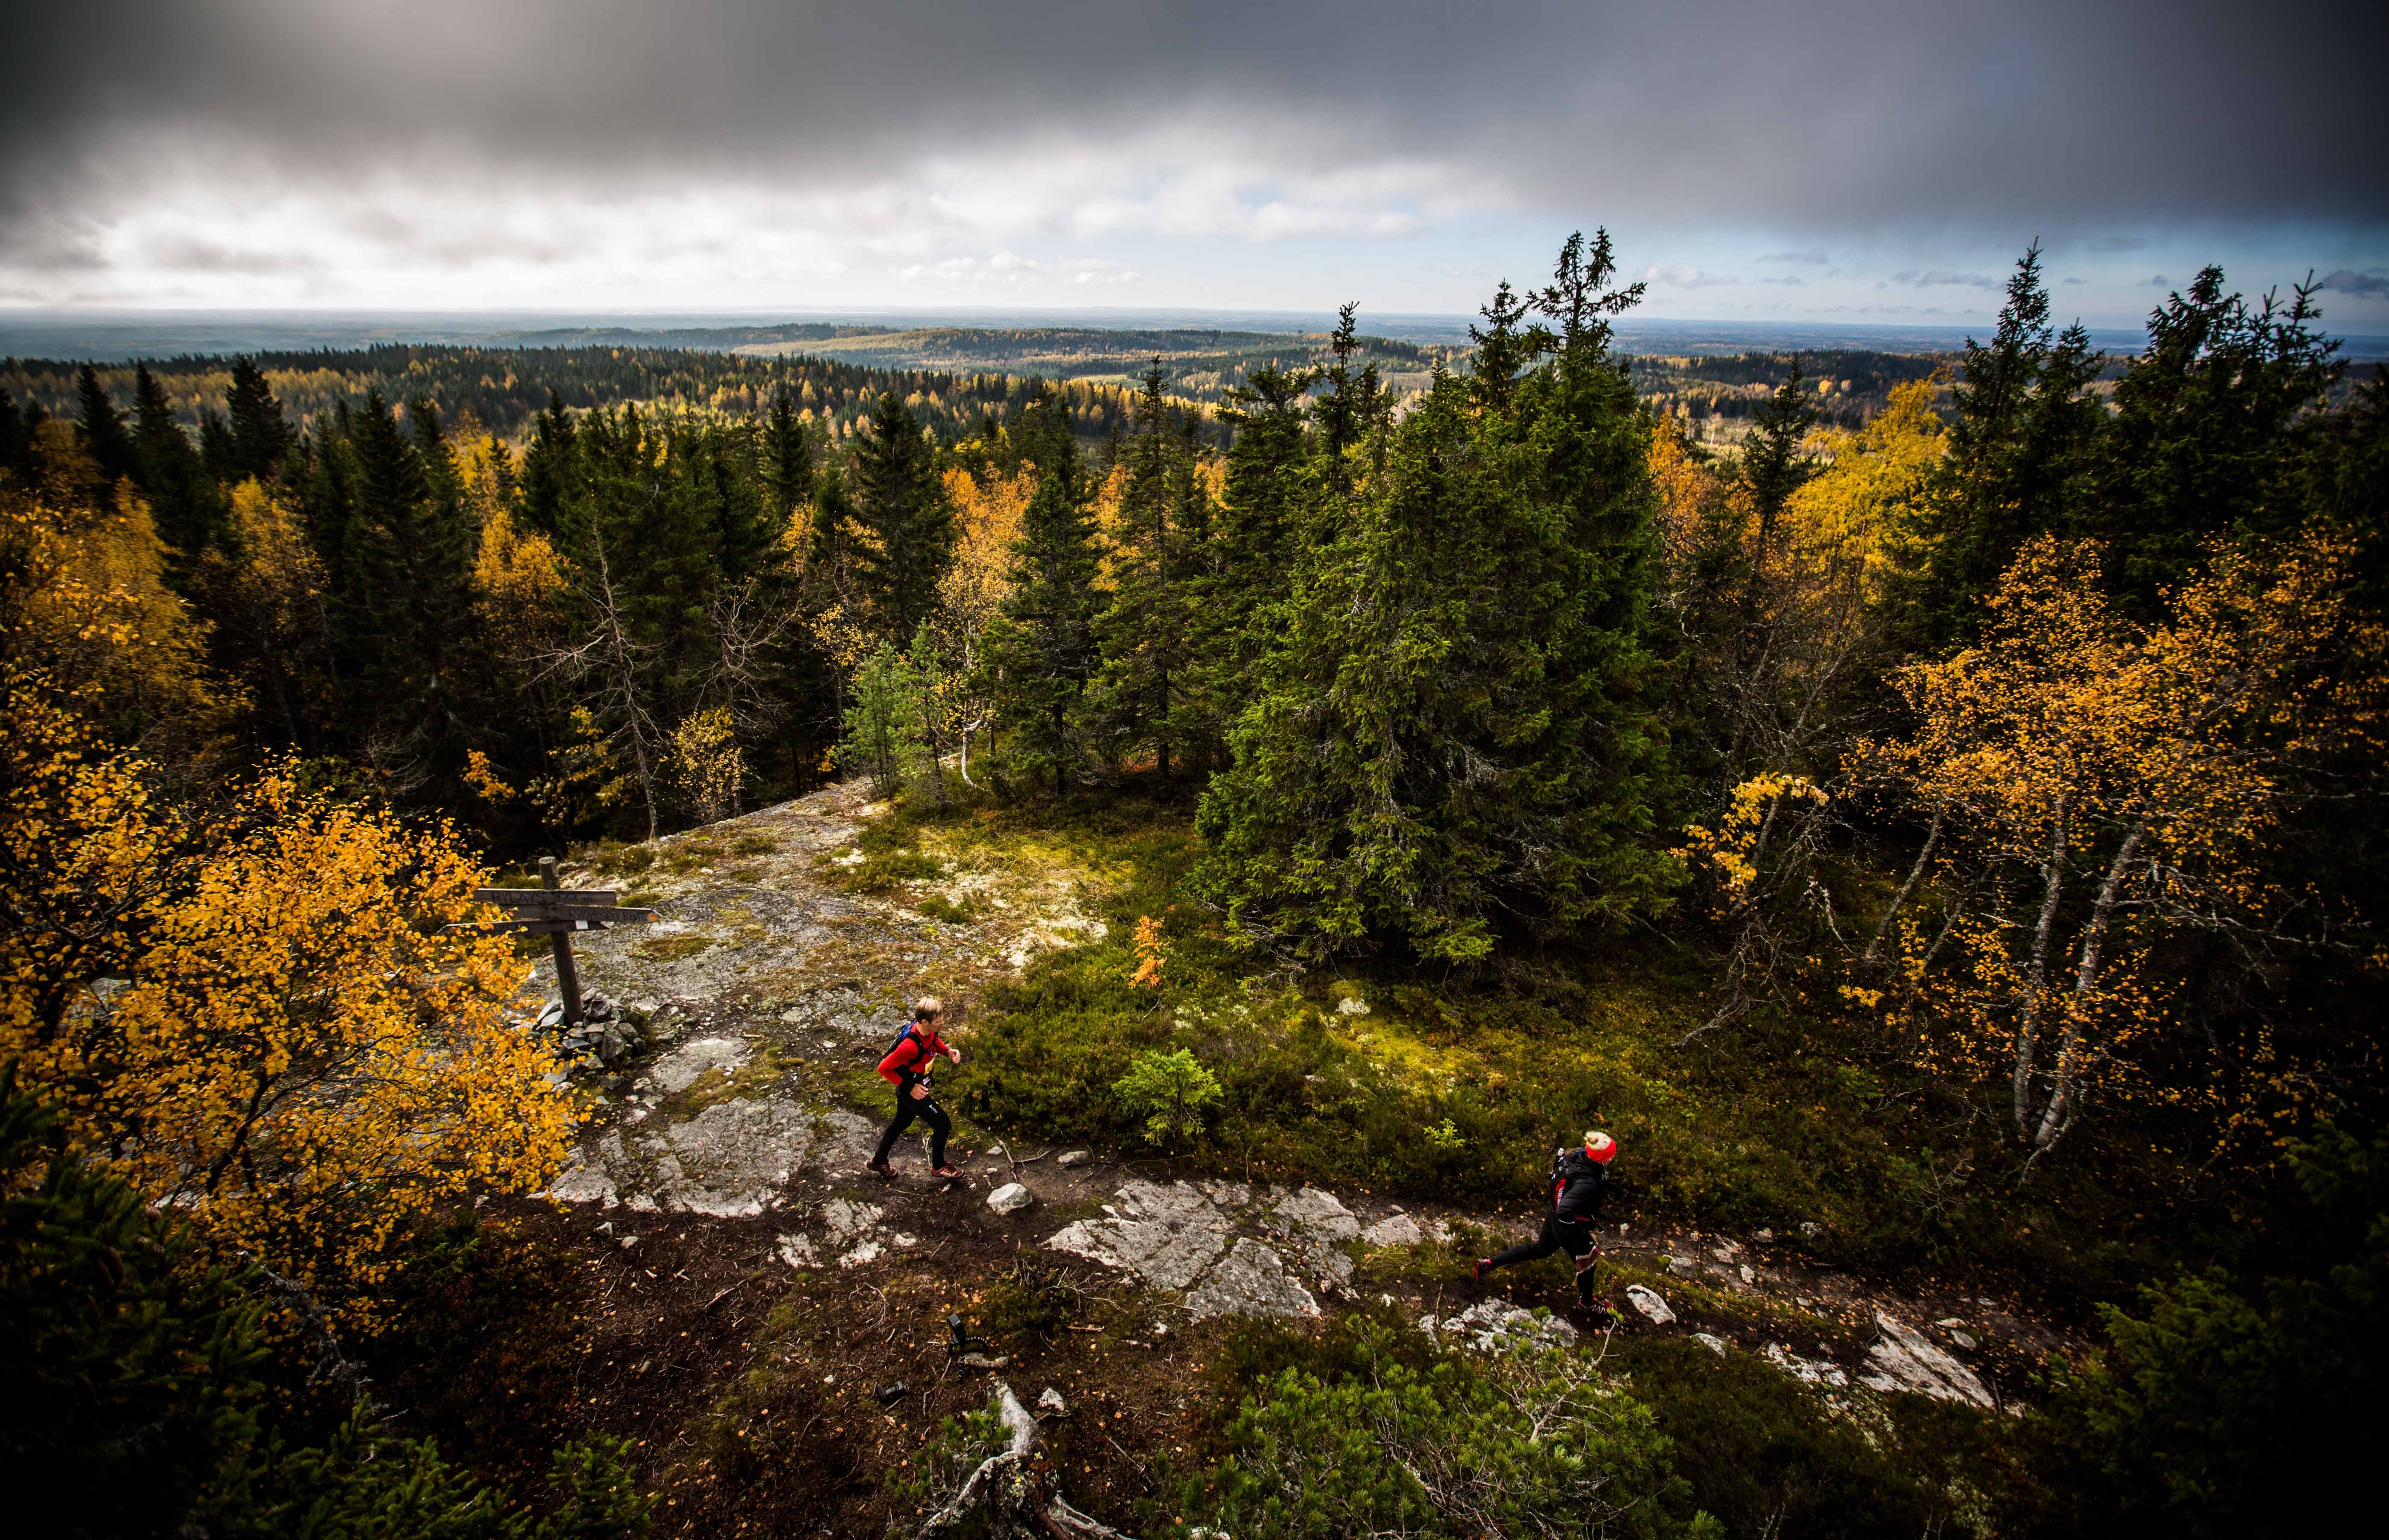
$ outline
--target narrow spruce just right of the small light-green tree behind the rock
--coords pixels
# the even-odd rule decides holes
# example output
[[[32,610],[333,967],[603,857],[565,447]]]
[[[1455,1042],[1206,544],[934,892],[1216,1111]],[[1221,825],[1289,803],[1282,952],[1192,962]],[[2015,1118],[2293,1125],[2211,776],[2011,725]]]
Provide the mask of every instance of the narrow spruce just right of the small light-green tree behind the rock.
[[[1020,513],[1013,595],[987,630],[984,669],[1011,764],[1051,778],[1054,795],[1063,795],[1085,764],[1082,709],[1101,661],[1094,630],[1101,556],[1068,408],[1054,396],[1032,401],[1015,444],[1037,468],[1037,492]]]

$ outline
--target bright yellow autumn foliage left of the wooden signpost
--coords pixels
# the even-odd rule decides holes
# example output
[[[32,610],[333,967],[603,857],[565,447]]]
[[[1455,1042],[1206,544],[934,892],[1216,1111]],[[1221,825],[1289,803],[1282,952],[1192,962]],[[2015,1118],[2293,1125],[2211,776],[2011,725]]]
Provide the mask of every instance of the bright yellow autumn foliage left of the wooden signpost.
[[[526,969],[440,934],[492,917],[454,831],[284,769],[177,812],[41,676],[5,709],[0,1060],[91,1160],[327,1301],[409,1218],[554,1175],[576,1113],[504,1022]]]

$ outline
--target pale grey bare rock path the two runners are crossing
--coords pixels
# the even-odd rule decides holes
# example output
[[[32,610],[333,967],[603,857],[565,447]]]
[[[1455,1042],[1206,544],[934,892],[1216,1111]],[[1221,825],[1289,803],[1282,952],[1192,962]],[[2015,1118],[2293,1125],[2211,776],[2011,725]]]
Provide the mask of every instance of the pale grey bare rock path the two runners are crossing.
[[[1527,1215],[1183,1179],[1044,1146],[999,1146],[951,1184],[925,1177],[917,1146],[898,1151],[910,1179],[865,1175],[884,1108],[870,1065],[905,1000],[934,991],[968,1003],[1039,950],[1101,934],[1082,907],[1094,879],[1051,860],[948,869],[889,898],[841,891],[831,879],[862,860],[855,836],[872,812],[853,786],[829,788],[659,840],[643,871],[571,879],[626,886],[662,919],[645,934],[595,934],[578,953],[585,988],[612,996],[626,1029],[604,1043],[614,1062],[566,1046],[602,1105],[549,1196],[602,1211],[621,1244],[638,1215],[738,1220],[741,1244],[762,1225],[796,1273],[870,1277],[965,1239],[1082,1258],[1190,1323],[1374,1299],[1481,1349],[1577,1335],[1512,1304],[1539,1285],[1429,1282],[1453,1273],[1441,1242],[1455,1225],[1507,1244],[1527,1234]],[[977,919],[932,919],[925,900],[968,903]],[[549,984],[547,965],[538,981]],[[1634,1280],[1613,1292],[1632,1330],[1751,1351],[1828,1392],[1868,1385],[1992,1406],[2055,1342],[1992,1299],[1868,1289],[1813,1265],[1801,1237],[1613,1225],[1603,1251]]]

